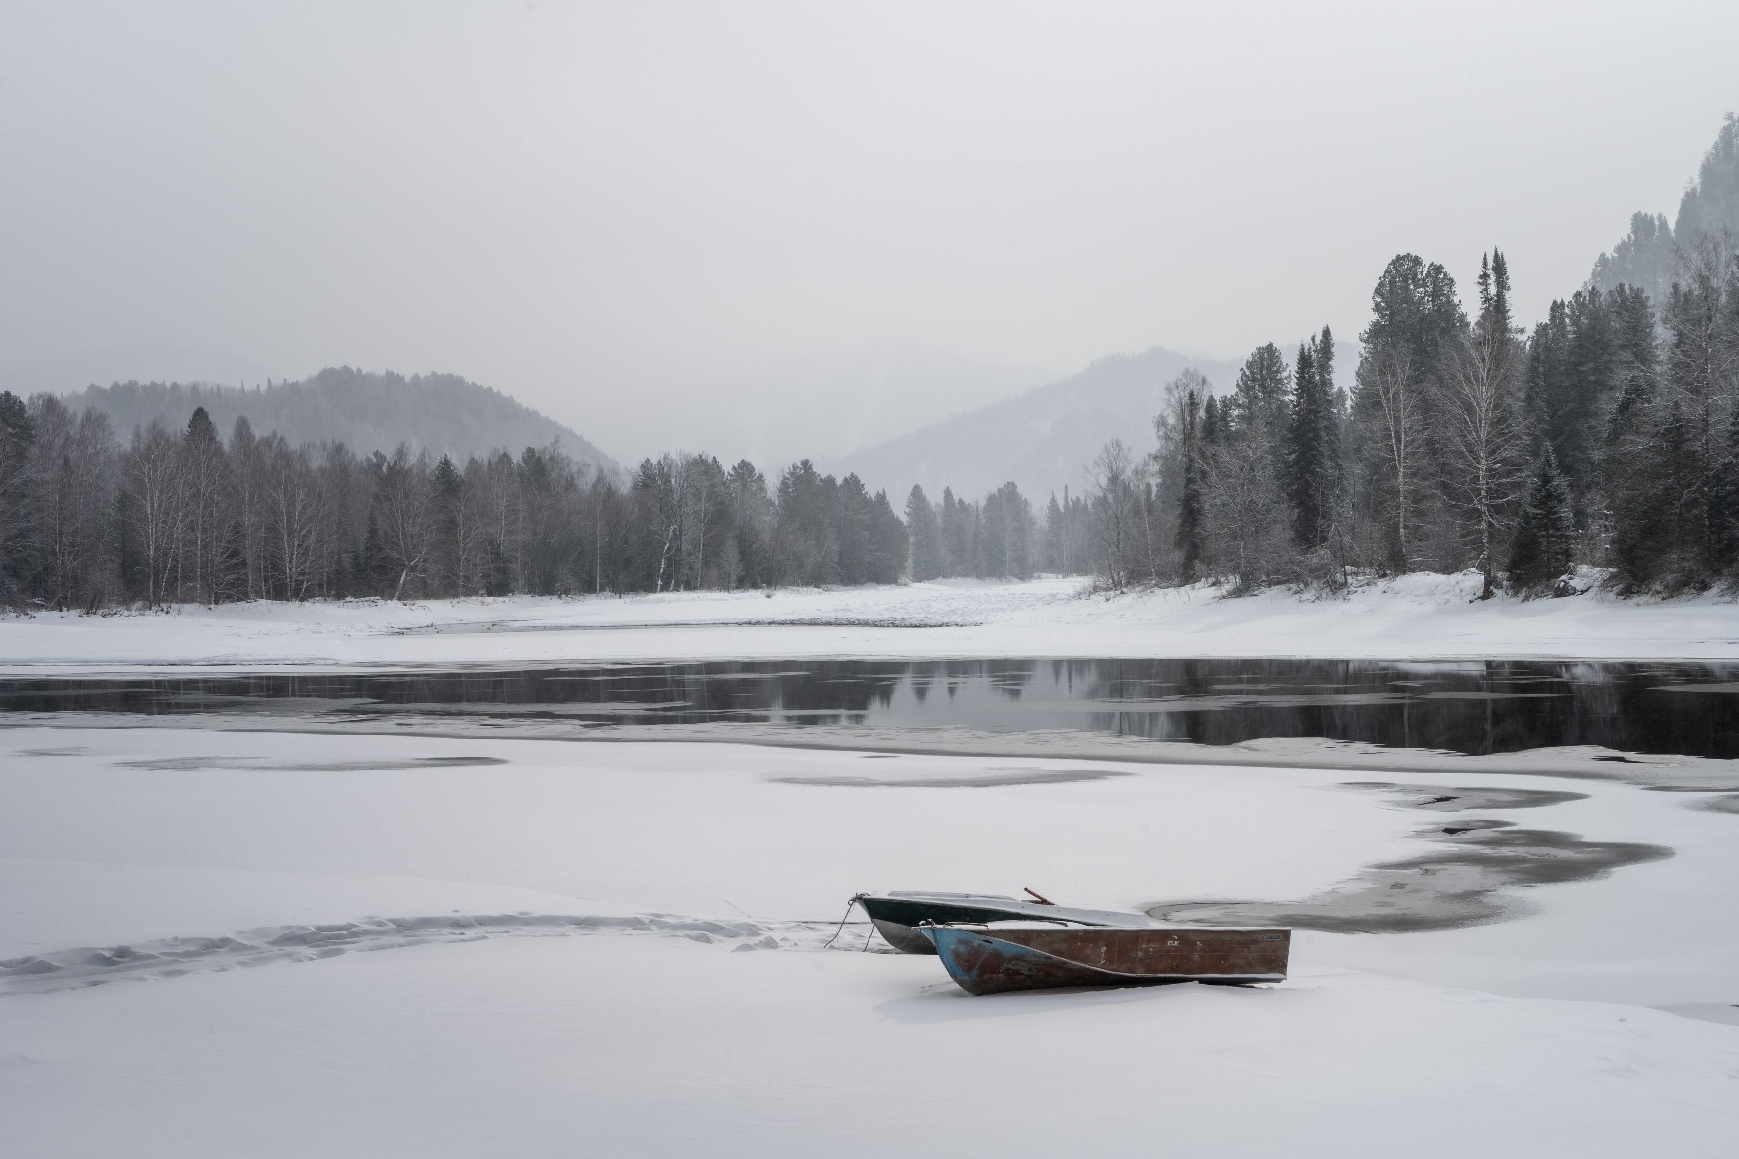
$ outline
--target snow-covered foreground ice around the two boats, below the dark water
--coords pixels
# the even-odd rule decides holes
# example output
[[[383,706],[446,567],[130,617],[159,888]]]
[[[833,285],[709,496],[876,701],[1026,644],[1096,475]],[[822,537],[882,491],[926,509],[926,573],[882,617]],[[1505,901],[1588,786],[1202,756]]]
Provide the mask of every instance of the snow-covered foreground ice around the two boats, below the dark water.
[[[1301,933],[1278,987],[967,997],[861,926],[817,949],[856,890],[1304,897],[1445,824],[1346,778],[5,730],[0,956],[188,952],[0,975],[0,1123],[33,1156],[1734,1152],[1739,818],[1685,794],[1469,773],[1678,853],[1508,923]]]

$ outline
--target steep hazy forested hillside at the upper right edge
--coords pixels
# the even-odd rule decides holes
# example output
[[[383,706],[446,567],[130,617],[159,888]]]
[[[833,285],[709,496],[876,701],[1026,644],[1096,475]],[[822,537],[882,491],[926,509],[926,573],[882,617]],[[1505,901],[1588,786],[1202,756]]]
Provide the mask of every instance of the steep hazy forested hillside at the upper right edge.
[[[1678,200],[1678,219],[1631,214],[1629,233],[1610,254],[1600,255],[1588,280],[1600,290],[1636,285],[1652,302],[1662,304],[1671,295],[1680,254],[1723,229],[1739,235],[1739,118],[1732,113],[1702,156],[1697,179]]]

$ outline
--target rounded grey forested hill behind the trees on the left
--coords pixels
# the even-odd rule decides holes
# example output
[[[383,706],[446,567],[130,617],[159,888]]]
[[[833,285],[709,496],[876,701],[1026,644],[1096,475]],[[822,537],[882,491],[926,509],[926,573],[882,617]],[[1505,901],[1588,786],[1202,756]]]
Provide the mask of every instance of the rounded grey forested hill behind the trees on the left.
[[[456,374],[363,372],[329,367],[301,382],[245,389],[203,382],[117,382],[92,386],[66,400],[103,410],[117,434],[127,438],[136,426],[158,419],[170,429],[188,424],[195,407],[203,407],[224,434],[242,415],[254,431],[277,431],[290,445],[341,441],[360,455],[391,454],[398,443],[433,455],[449,454],[459,462],[504,448],[560,441],[579,462],[616,471],[617,464],[555,419],[523,407],[501,391],[478,386]]]

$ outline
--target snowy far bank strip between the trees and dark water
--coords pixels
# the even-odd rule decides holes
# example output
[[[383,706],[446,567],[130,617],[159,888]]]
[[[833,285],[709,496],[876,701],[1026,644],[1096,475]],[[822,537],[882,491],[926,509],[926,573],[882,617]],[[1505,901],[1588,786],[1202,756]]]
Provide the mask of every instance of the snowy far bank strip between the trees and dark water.
[[[150,664],[567,664],[706,659],[1334,657],[1739,659],[1715,598],[1478,603],[1476,575],[1407,575],[1348,598],[1217,589],[1085,594],[1078,579],[666,593],[579,599],[184,605],[162,615],[0,620],[0,672]]]

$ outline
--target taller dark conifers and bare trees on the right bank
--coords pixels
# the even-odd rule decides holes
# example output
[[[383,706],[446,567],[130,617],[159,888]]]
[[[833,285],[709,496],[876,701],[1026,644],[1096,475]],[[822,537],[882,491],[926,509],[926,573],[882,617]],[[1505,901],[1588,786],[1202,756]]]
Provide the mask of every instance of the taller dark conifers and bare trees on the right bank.
[[[1219,579],[1339,587],[1459,572],[1482,598],[1565,591],[1579,563],[1621,591],[1704,589],[1739,565],[1739,259],[1678,252],[1664,302],[1631,285],[1555,301],[1529,334],[1501,250],[1478,306],[1412,254],[1372,292],[1351,389],[1325,327],[1257,348],[1223,396],[1165,387],[1158,450],[1094,464],[1097,570],[1115,586]]]

